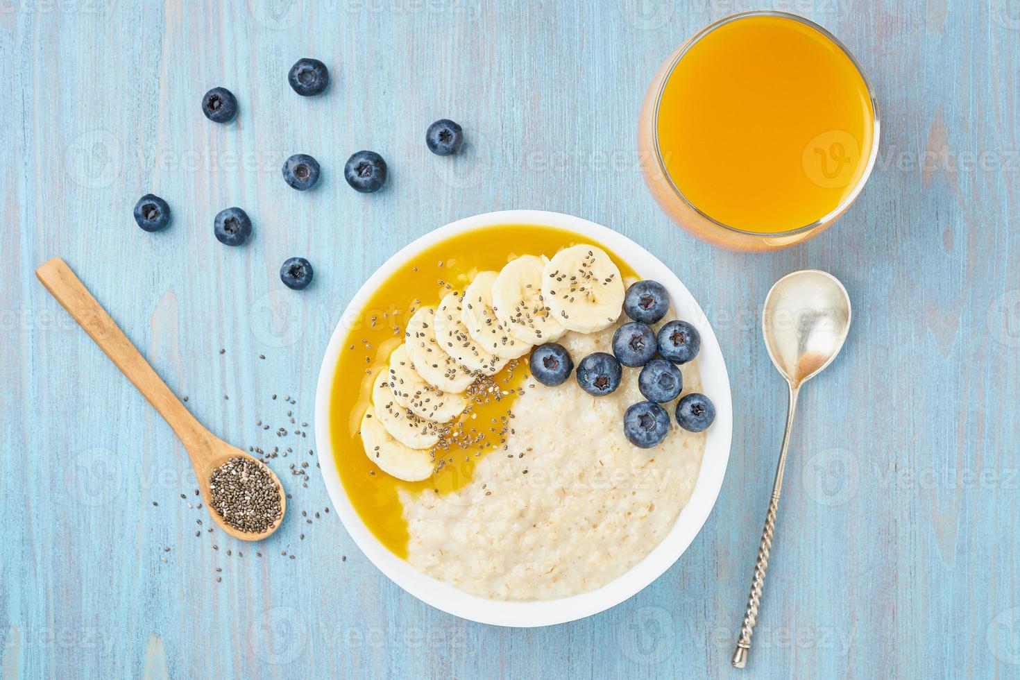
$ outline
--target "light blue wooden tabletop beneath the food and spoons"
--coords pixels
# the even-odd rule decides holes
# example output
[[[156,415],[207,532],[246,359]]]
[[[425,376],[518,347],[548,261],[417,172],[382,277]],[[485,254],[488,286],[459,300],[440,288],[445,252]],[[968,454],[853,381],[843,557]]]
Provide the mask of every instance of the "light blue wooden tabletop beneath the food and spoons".
[[[882,147],[834,228],[747,255],[675,228],[634,152],[660,61],[743,0],[0,0],[0,677],[737,677],[785,410],[759,308],[809,266],[846,282],[854,327],[802,395],[746,675],[1020,675],[1020,6],[776,6],[855,51]],[[301,56],[328,64],[326,96],[288,88]],[[202,117],[213,86],[237,94],[237,124]],[[425,150],[445,116],[462,158]],[[343,181],[362,148],[390,161],[380,194]],[[308,195],[279,176],[297,152],[323,167]],[[171,204],[164,232],[134,224],[147,192]],[[232,205],[255,223],[245,248],[212,238]],[[307,487],[285,476],[280,531],[206,533],[172,432],[33,276],[64,257],[200,420],[265,449],[278,426],[312,431],[321,353],[366,276],[505,208],[601,222],[673,267],[714,324],[736,414],[682,559],[546,629],[466,623],[389,582],[325,512],[310,434],[273,461],[312,471]],[[292,255],[315,267],[302,294],[277,275]]]

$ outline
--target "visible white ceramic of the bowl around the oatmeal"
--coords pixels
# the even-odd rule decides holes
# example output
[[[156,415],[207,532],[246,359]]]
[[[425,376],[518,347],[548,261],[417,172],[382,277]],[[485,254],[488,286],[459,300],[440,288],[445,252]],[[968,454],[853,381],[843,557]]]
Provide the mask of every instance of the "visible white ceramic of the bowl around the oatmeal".
[[[702,388],[716,407],[716,418],[708,430],[698,481],[691,500],[680,512],[672,530],[648,557],[616,580],[598,590],[561,599],[513,603],[486,599],[425,576],[393,555],[364,525],[347,496],[334,461],[329,434],[329,401],[334,375],[340,360],[341,347],[347,334],[343,319],[357,318],[358,312],[371,293],[400,266],[425,248],[456,233],[508,223],[548,224],[574,231],[578,236],[578,241],[590,239],[606,246],[642,277],[653,278],[665,285],[672,299],[673,310],[680,318],[694,323],[701,332],[702,345],[698,355],[698,366],[701,371]],[[548,255],[553,254],[548,253]],[[683,283],[666,265],[626,237],[578,217],[541,210],[507,210],[466,217],[429,231],[387,260],[361,286],[341,318],[322,358],[318,388],[315,394],[315,441],[318,446],[322,477],[334,508],[354,542],[384,574],[418,599],[464,619],[500,626],[547,626],[581,619],[622,603],[661,576],[683,554],[708,519],[722,486],[732,434],[733,414],[726,365],[712,327]],[[352,452],[351,455],[361,454]]]

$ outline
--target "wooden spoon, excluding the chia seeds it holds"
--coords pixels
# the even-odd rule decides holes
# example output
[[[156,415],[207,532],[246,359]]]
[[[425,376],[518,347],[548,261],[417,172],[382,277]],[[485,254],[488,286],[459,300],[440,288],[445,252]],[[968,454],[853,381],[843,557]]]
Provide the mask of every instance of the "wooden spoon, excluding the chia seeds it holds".
[[[181,437],[181,441],[191,458],[192,466],[195,468],[195,476],[198,478],[199,488],[202,490],[205,508],[209,511],[213,521],[219,525],[219,528],[242,540],[260,540],[275,531],[287,512],[287,494],[284,492],[284,485],[279,483],[279,479],[272,470],[260,463],[255,457],[216,437],[195,419],[195,416],[185,408],[181,400],[159,378],[145,357],[132,345],[123,331],[106,313],[106,310],[96,302],[96,299],[79,280],[66,262],[55,257],[36,269],[36,276],[78,321],[78,324],[85,328],[96,345],[106,353],[106,356],[113,360],[120,372],[126,375],[128,379],[134,382],[139,391],[149,400],[149,403],[156,407],[159,415],[163,416],[167,424]],[[209,479],[213,470],[231,458],[255,461],[272,477],[279,489],[279,517],[261,533],[235,529],[213,510]]]

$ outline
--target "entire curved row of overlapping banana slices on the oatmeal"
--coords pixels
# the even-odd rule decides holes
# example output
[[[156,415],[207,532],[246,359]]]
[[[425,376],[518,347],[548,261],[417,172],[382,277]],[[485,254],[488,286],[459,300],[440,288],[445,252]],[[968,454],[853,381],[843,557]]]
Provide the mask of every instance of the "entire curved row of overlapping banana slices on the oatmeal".
[[[551,260],[524,255],[499,272],[477,274],[463,294],[421,307],[405,343],[375,377],[361,422],[365,454],[394,477],[426,479],[431,448],[446,423],[467,408],[462,396],[478,377],[495,375],[533,345],[567,330],[591,333],[620,315],[623,281],[605,252],[574,246]]]

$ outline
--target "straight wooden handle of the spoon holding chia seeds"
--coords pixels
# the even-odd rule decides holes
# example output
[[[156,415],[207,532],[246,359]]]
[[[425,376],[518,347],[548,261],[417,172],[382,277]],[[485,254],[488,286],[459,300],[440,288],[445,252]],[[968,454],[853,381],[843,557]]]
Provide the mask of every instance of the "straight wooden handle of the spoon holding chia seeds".
[[[206,429],[170,391],[66,262],[55,257],[36,269],[36,276],[116,364],[120,372],[156,407],[156,411],[173,428],[186,449],[191,451],[192,444],[205,438]]]

